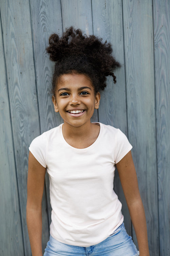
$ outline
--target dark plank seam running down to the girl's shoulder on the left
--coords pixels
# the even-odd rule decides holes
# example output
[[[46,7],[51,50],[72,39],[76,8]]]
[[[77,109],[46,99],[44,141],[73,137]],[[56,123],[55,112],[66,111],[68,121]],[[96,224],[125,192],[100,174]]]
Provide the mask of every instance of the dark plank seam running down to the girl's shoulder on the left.
[[[36,89],[36,97],[37,97],[37,109],[38,109],[38,120],[39,120],[39,131],[41,133],[41,125],[40,125],[40,112],[39,112],[39,100],[38,100],[38,89],[37,89],[37,76],[36,76],[36,68],[35,68],[35,49],[33,44],[33,25],[32,25],[32,19],[31,19],[31,4],[29,0],[29,6],[30,6],[30,25],[31,25],[31,37],[32,37],[32,48],[33,48],[33,62],[34,62],[34,74],[35,74],[35,89]],[[46,181],[45,181],[45,197],[46,197],[46,203],[47,200],[47,189],[46,189]],[[48,203],[47,203],[48,205]],[[47,221],[48,221],[48,231],[50,232],[50,222],[49,222],[49,212],[47,211]]]

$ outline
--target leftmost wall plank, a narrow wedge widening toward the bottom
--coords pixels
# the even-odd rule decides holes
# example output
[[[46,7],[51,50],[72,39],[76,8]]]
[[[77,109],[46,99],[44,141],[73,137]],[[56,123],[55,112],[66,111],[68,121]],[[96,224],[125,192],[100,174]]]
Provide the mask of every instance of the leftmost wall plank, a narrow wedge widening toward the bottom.
[[[24,255],[0,23],[0,255]]]

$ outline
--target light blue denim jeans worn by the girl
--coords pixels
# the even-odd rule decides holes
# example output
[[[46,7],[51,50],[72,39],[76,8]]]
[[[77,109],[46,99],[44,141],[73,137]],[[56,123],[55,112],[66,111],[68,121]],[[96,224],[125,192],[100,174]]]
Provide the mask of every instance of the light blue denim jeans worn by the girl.
[[[101,243],[81,247],[64,244],[50,236],[44,256],[138,256],[139,252],[132,238],[127,234],[124,224]]]

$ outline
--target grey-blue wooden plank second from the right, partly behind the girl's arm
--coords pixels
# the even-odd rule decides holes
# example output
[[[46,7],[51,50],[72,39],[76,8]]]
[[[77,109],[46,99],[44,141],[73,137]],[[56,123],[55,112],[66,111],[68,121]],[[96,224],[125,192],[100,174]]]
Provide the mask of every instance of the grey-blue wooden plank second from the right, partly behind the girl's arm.
[[[159,255],[152,1],[123,1],[128,133],[145,207],[150,255]],[[136,237],[133,230],[133,238]]]

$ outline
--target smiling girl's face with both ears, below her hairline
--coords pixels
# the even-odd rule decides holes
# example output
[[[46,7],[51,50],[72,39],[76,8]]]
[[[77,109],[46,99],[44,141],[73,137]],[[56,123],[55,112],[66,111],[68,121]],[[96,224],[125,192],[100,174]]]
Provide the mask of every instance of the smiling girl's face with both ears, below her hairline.
[[[90,123],[94,109],[99,108],[100,93],[95,94],[91,80],[84,74],[63,74],[52,97],[55,112],[64,124],[80,127]]]

